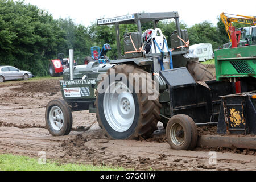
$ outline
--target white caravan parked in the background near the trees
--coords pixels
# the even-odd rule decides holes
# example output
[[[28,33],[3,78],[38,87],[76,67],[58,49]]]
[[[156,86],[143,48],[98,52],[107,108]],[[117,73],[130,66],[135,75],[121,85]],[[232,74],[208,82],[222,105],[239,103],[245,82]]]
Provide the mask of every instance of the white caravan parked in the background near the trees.
[[[213,59],[212,44],[201,43],[189,46],[189,53],[192,53],[193,55],[196,55],[196,57],[199,57],[199,62]]]

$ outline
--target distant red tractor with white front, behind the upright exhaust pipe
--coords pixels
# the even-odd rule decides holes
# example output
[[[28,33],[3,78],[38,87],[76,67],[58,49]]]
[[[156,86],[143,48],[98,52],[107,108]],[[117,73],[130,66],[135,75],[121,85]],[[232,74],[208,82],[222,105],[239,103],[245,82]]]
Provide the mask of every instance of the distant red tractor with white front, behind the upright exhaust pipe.
[[[77,65],[75,61],[74,65]],[[69,68],[69,58],[64,58],[64,54],[59,53],[58,59],[53,59],[50,61],[49,75],[51,75],[51,77],[61,76],[63,71],[67,68]]]

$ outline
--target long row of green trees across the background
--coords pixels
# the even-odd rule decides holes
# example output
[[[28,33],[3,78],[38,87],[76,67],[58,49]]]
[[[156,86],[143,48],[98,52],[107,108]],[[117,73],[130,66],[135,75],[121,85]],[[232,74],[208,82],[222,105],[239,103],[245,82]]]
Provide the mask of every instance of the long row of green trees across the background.
[[[152,27],[152,23],[143,23],[142,31]],[[192,27],[181,22],[180,27],[187,29],[191,45],[211,43],[217,49],[229,42],[220,19],[217,26],[205,21]],[[161,21],[158,28],[170,44],[175,22]],[[120,35],[133,31],[137,31],[135,24],[120,26]],[[122,40],[123,36],[121,43]],[[75,24],[71,18],[53,19],[47,11],[23,1],[0,0],[0,65],[13,65],[36,76],[46,76],[49,60],[56,59],[58,53],[68,56],[68,50],[74,49],[75,60],[82,64],[90,55],[90,47],[102,47],[105,43],[112,47],[108,56],[113,59],[117,56],[114,26],[92,23],[85,27]]]

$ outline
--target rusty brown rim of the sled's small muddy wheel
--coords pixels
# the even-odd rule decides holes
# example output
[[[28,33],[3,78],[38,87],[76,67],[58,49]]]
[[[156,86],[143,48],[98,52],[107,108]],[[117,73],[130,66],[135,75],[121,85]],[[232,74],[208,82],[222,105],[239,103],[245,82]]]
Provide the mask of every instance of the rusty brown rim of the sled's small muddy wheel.
[[[170,138],[172,143],[176,146],[181,146],[185,140],[185,133],[183,127],[179,123],[175,123],[172,125],[170,130]]]

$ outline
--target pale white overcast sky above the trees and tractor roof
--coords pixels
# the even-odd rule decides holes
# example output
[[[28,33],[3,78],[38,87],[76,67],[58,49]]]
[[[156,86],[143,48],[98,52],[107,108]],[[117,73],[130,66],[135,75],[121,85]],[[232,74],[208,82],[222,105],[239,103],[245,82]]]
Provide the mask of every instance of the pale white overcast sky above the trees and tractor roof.
[[[89,26],[100,18],[112,18],[139,12],[178,11],[180,21],[188,26],[208,20],[217,23],[217,16],[222,12],[256,16],[255,0],[25,0],[26,3],[37,5],[47,10],[53,18],[72,18],[77,24]],[[240,5],[241,4],[241,5]]]

